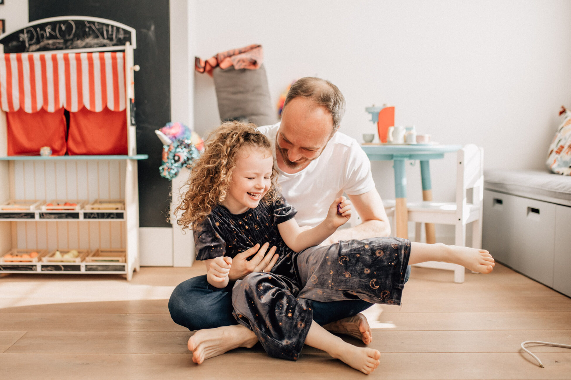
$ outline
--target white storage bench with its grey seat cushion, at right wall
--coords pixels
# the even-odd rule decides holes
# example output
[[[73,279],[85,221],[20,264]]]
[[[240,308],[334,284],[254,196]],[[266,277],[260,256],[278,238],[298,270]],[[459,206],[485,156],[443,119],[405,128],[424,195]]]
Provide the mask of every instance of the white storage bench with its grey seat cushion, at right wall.
[[[485,171],[482,224],[497,261],[571,297],[571,177]]]

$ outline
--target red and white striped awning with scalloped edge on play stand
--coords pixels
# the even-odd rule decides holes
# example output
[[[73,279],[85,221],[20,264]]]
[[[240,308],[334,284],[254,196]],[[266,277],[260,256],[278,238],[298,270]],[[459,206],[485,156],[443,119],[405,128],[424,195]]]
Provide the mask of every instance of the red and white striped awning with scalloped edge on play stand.
[[[124,67],[123,52],[0,54],[0,107],[123,111]]]

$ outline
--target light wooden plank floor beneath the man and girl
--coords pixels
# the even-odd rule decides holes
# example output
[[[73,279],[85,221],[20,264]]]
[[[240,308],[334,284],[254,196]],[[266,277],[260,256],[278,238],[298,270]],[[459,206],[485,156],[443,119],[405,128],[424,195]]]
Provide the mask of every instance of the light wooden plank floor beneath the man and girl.
[[[142,268],[120,276],[3,275],[0,278],[2,379],[349,379],[366,375],[305,347],[297,362],[261,346],[197,366],[191,333],[172,322],[168,296],[193,268]],[[490,275],[413,268],[403,306],[373,307],[371,346],[381,352],[370,379],[571,379],[571,299],[502,265]],[[347,341],[359,345],[352,338]]]

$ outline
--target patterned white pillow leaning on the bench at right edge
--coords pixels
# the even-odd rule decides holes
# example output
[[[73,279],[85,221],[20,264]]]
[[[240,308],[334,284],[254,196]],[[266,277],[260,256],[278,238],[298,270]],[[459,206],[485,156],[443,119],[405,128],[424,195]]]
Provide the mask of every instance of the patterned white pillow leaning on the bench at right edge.
[[[571,112],[562,107],[561,126],[557,129],[545,165],[556,174],[571,175]]]

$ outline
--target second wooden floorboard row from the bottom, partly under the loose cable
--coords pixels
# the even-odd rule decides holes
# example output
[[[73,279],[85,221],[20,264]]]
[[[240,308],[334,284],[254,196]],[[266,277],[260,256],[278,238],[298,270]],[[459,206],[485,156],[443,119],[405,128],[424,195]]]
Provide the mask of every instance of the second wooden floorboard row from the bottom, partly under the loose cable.
[[[520,352],[523,341],[561,340],[568,330],[375,331],[373,344],[381,353]],[[188,332],[27,332],[14,333],[6,353],[188,354]],[[361,342],[346,338],[354,345]],[[571,352],[564,348],[530,345],[533,352]],[[235,352],[263,353],[262,347]],[[319,350],[305,346],[304,353]]]

